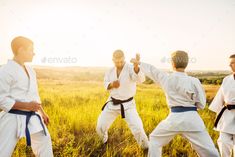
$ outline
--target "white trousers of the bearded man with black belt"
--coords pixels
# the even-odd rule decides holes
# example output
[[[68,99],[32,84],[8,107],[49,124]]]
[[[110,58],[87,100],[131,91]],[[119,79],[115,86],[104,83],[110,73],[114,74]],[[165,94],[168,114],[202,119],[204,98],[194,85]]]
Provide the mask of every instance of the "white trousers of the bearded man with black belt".
[[[104,143],[108,140],[109,127],[112,125],[117,116],[120,115],[120,112],[120,110],[109,109],[106,106],[99,115],[96,131]],[[136,108],[125,110],[125,121],[127,122],[137,143],[144,149],[148,148],[148,137],[145,134],[142,120],[140,119]]]

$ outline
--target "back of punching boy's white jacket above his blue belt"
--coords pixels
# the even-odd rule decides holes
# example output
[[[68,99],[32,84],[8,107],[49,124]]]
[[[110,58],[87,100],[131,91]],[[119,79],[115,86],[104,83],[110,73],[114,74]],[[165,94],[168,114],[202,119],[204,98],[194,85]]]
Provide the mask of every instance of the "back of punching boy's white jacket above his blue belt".
[[[163,84],[168,105],[195,106],[204,108],[205,93],[198,79],[183,72],[174,72],[166,77]]]

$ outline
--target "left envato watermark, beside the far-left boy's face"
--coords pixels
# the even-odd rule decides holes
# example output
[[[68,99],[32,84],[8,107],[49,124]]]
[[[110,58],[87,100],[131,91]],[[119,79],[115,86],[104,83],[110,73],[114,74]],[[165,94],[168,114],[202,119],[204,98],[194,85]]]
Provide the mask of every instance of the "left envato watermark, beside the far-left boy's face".
[[[41,62],[44,64],[75,64],[78,63],[77,57],[43,57]]]

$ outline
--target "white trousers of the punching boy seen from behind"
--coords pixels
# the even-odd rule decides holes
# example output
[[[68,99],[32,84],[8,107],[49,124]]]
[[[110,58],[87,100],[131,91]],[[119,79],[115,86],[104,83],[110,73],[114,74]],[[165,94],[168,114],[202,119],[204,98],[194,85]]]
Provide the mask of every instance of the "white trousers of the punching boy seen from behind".
[[[155,128],[150,134],[149,157],[161,157],[162,147],[167,145],[175,135],[188,139],[200,157],[219,157],[219,153],[206,130],[203,131],[169,131]]]

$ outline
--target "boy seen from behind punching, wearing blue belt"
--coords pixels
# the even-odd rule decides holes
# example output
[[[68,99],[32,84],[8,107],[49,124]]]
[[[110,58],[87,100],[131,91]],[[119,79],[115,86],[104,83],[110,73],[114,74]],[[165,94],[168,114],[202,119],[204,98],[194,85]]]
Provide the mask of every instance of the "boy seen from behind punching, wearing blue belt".
[[[161,121],[150,134],[149,156],[160,157],[162,147],[175,135],[188,139],[200,157],[218,157],[219,153],[197,113],[206,104],[205,93],[200,81],[185,73],[188,54],[176,51],[171,55],[174,72],[167,74],[154,66],[139,62],[139,56],[131,60],[139,64],[140,70],[163,88],[167,104],[171,109],[167,118]]]

